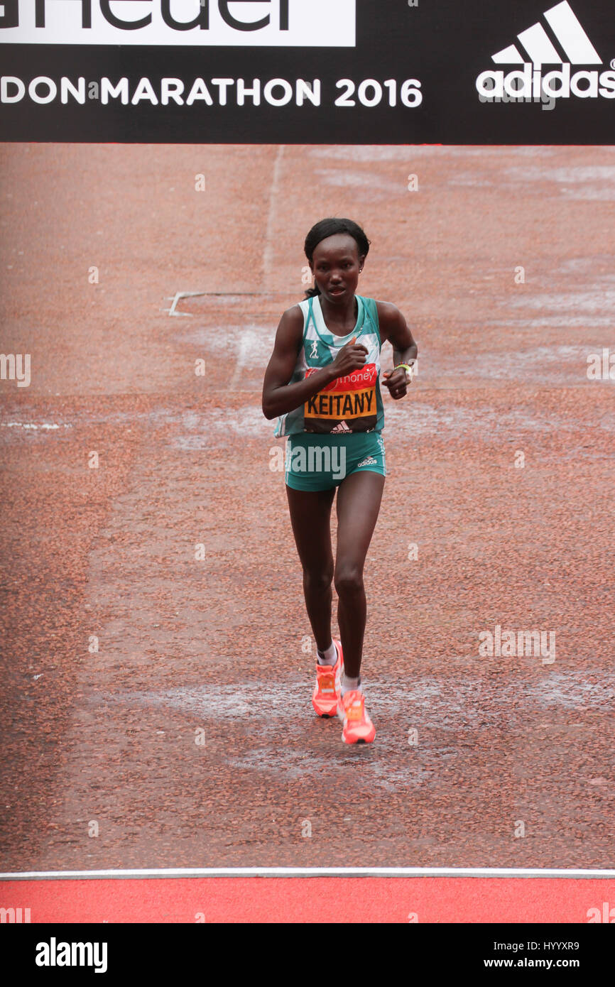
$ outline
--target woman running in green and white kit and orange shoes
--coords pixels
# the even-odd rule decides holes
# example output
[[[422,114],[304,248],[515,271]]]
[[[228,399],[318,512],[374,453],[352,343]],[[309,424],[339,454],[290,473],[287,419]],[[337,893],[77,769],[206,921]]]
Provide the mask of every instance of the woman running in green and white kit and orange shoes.
[[[274,435],[288,436],[286,494],[317,646],[312,704],[320,717],[340,717],[346,743],[370,743],[376,733],[360,666],[363,565],[386,476],[380,349],[387,340],[393,345],[394,370],[383,383],[395,401],[407,394],[418,352],[395,305],[355,294],[369,243],[350,219],[323,219],[310,230],[305,254],[315,287],[283,313],[263,386],[263,413],[278,418]],[[341,642],[331,636],[332,580]]]

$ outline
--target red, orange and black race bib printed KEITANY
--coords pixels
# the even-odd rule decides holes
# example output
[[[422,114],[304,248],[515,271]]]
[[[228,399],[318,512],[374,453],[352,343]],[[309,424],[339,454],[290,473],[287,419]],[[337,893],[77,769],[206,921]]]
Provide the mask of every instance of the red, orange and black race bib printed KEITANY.
[[[305,372],[306,379],[318,373],[318,367]],[[303,408],[304,428],[308,432],[369,431],[376,426],[375,363],[365,363],[346,377],[338,377],[326,388],[309,398]]]

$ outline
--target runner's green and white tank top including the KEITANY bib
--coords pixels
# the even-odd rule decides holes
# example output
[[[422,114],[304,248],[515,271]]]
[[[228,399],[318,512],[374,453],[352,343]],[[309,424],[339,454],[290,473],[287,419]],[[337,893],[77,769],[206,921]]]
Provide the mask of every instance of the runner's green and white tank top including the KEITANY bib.
[[[333,363],[342,346],[353,336],[366,347],[367,357],[360,370],[338,377],[299,408],[280,416],[273,432],[276,437],[297,432],[340,435],[380,431],[384,427],[378,310],[373,298],[361,295],[355,295],[355,298],[358,305],[356,325],[346,336],[336,336],[327,329],[318,295],[299,302],[303,312],[303,339],[289,384]]]

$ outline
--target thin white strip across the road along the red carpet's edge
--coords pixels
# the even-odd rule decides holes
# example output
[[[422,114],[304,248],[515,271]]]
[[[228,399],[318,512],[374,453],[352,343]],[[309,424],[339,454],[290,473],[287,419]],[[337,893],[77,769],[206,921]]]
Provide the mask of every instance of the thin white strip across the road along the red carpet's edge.
[[[218,867],[141,871],[29,871],[0,873],[0,880],[123,877],[611,877],[615,870],[482,867]]]

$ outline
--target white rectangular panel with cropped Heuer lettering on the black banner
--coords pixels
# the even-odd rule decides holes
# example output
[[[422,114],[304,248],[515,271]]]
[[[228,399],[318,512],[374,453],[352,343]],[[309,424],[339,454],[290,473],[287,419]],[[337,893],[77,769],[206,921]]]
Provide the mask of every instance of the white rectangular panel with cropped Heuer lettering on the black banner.
[[[0,43],[354,47],[356,0],[0,0]]]

